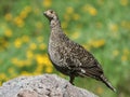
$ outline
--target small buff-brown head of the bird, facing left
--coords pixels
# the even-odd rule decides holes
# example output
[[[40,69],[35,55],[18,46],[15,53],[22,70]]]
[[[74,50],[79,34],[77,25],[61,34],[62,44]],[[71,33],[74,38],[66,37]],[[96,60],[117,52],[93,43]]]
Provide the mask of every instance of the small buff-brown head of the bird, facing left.
[[[49,20],[57,19],[57,15],[56,15],[56,13],[53,10],[48,10],[48,11],[43,12],[43,15],[46,15],[46,17]]]

